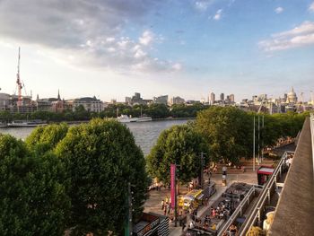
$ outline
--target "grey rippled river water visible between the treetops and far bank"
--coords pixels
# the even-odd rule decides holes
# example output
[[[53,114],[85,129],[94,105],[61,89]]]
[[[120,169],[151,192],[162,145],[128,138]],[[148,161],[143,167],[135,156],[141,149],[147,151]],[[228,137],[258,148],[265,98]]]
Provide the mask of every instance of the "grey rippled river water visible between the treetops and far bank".
[[[132,122],[126,123],[126,127],[129,127],[133,135],[135,136],[135,143],[139,145],[144,155],[147,155],[153,144],[156,143],[161,131],[175,125],[186,124],[188,120],[160,120],[160,121],[148,121],[148,122]],[[17,138],[25,139],[31,134],[33,127],[16,127],[16,128],[1,128],[0,133],[10,134]]]

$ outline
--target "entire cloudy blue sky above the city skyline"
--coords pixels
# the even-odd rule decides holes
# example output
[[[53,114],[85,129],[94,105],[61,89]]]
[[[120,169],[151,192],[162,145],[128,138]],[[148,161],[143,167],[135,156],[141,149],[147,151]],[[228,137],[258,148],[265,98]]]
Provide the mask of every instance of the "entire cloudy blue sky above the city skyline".
[[[0,88],[124,101],[314,91],[313,0],[0,0]]]

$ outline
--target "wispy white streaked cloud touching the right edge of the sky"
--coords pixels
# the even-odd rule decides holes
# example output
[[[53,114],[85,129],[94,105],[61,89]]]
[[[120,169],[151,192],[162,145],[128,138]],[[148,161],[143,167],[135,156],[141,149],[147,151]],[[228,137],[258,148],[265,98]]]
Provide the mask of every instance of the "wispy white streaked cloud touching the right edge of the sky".
[[[302,22],[291,31],[275,33],[271,39],[259,41],[258,45],[267,52],[314,45],[314,22]]]

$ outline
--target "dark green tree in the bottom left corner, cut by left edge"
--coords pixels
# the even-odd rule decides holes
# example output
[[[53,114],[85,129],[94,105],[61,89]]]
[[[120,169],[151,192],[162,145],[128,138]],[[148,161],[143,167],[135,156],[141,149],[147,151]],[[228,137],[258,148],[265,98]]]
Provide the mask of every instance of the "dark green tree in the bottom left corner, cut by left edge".
[[[53,153],[37,155],[0,135],[0,234],[64,235],[70,199],[64,165]]]

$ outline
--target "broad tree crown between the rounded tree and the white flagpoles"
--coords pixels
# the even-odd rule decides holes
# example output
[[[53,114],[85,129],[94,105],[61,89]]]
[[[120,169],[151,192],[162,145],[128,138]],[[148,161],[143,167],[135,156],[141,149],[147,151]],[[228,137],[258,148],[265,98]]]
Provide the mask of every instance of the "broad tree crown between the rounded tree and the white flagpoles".
[[[252,147],[253,119],[240,109],[211,107],[197,114],[196,130],[205,136],[214,161],[239,162]]]

